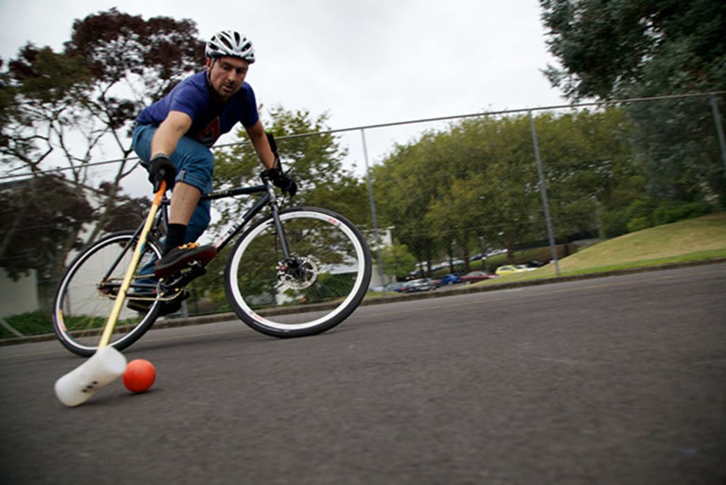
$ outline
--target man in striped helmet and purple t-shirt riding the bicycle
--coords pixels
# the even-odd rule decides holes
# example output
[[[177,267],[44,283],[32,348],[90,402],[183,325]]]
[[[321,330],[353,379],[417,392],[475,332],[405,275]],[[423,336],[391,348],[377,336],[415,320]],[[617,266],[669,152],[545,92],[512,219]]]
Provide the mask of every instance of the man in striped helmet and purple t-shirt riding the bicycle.
[[[290,195],[297,190],[272,152],[254,91],[245,82],[255,62],[252,43],[234,30],[222,30],[206,44],[205,57],[205,70],[144,108],[134,126],[133,148],[149,171],[154,192],[162,181],[173,188],[163,255],[153,271],[156,278],[170,277],[191,261],[207,264],[216,254],[213,245],[195,243],[211,220],[211,201],[200,200],[200,196],[212,190],[214,157],[210,148],[237,122],[245,127],[272,182]],[[132,308],[132,303],[147,306],[143,301],[131,301]],[[178,301],[166,303],[162,312],[176,309]]]

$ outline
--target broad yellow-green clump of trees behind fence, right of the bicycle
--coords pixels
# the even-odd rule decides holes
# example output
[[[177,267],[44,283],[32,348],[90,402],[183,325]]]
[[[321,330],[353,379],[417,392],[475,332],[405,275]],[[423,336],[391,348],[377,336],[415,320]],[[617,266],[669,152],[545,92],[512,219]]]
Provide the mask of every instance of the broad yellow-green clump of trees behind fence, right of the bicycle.
[[[542,113],[534,123],[561,240],[603,232],[608,211],[643,193],[621,108]],[[429,269],[447,256],[468,270],[488,248],[506,248],[513,262],[515,249],[547,239],[529,115],[452,123],[396,147],[372,173],[381,219]]]

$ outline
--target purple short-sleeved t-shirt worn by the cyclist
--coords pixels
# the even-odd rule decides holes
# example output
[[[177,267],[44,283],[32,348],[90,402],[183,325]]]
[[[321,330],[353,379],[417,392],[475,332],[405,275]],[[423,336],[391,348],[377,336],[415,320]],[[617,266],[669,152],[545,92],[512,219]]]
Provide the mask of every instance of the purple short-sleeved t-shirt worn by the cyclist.
[[[153,105],[145,107],[136,118],[139,125],[159,126],[169,111],[181,111],[192,118],[192,126],[185,136],[211,147],[219,136],[234,127],[239,121],[242,126],[257,123],[257,102],[252,86],[242,83],[240,91],[227,102],[216,102],[207,84],[207,73],[202,71],[181,81],[169,94]]]

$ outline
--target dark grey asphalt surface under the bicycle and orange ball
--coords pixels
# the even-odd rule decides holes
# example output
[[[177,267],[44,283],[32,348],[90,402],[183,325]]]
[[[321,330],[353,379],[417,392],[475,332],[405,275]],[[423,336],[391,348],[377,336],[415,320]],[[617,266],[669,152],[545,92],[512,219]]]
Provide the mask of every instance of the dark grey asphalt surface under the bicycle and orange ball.
[[[726,264],[152,330],[146,394],[0,348],[3,484],[724,484]]]

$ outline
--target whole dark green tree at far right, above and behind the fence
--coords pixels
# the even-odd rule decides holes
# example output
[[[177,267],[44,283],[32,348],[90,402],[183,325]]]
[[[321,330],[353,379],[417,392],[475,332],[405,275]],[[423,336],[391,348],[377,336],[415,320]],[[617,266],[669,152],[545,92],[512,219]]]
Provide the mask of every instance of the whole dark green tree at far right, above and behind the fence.
[[[540,0],[544,71],[569,99],[600,100],[726,89],[726,3],[713,0]],[[696,34],[697,33],[697,34]],[[719,99],[723,113],[723,100]],[[656,200],[720,200],[726,174],[708,98],[626,106]]]

